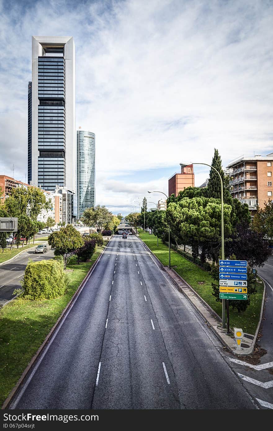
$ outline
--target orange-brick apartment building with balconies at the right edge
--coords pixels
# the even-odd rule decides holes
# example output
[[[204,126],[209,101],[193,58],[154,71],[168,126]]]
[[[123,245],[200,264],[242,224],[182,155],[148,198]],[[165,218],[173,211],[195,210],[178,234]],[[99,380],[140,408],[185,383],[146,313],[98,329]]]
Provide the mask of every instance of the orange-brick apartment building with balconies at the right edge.
[[[251,217],[256,206],[264,207],[268,199],[273,199],[273,153],[267,156],[239,157],[228,166],[233,198],[247,203]]]

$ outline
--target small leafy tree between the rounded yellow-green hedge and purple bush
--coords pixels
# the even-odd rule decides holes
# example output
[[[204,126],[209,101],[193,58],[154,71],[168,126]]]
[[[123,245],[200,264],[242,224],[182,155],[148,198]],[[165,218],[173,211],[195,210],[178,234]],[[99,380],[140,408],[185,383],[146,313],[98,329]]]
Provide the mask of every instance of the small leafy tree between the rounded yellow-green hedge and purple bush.
[[[48,244],[55,248],[55,256],[63,256],[64,268],[66,268],[69,259],[75,254],[75,250],[84,245],[84,240],[73,225],[67,225],[65,228],[61,228],[59,232],[50,234]]]

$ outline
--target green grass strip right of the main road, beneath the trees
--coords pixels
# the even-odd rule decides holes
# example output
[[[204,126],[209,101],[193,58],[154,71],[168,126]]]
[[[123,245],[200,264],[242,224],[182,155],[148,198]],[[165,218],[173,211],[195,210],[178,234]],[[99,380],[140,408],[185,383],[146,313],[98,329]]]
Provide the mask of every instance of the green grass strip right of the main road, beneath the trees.
[[[169,264],[168,245],[164,245],[154,235],[140,231],[140,238],[145,242],[149,249],[155,254],[164,266]],[[197,292],[205,302],[219,315],[222,315],[222,303],[215,300],[212,296],[211,275],[189,262],[185,257],[171,249],[171,267]],[[199,284],[200,282],[204,284]],[[245,312],[238,313],[230,307],[230,327],[242,328],[249,334],[255,334],[257,324],[260,319],[261,302],[264,292],[264,284],[256,283],[257,293],[251,296],[251,302]]]

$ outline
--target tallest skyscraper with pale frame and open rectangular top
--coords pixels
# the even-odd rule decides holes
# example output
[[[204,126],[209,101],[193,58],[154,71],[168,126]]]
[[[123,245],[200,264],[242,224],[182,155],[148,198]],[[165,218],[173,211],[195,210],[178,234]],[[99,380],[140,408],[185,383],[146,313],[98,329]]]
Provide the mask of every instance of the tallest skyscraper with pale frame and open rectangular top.
[[[75,193],[73,37],[32,37],[31,93],[31,180],[30,174],[28,178],[44,190],[53,191],[58,185]]]

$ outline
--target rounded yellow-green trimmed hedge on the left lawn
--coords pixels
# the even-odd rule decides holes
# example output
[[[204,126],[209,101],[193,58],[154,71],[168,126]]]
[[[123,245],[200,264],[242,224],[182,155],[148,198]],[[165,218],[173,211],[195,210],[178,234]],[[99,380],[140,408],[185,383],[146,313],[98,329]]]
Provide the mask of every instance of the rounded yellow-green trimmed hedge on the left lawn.
[[[68,284],[63,265],[56,259],[28,262],[21,298],[27,300],[53,299],[62,296]]]

